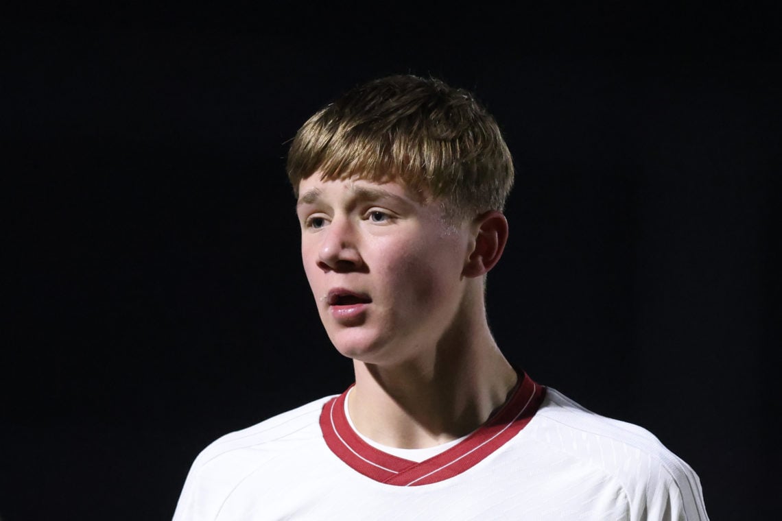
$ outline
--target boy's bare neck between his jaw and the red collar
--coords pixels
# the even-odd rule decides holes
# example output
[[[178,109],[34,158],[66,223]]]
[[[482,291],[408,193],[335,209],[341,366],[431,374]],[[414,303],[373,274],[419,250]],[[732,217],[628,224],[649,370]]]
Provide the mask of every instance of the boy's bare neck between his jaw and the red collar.
[[[432,447],[471,433],[504,404],[517,376],[485,315],[454,323],[435,346],[418,350],[429,356],[393,366],[353,362],[348,409],[361,434],[391,447]]]

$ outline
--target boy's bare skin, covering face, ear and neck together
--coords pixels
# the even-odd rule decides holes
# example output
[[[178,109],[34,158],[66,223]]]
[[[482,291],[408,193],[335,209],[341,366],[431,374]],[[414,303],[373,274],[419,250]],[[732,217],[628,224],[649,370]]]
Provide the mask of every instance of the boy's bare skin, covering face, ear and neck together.
[[[357,430],[400,448],[475,430],[516,383],[483,298],[507,241],[504,216],[447,222],[442,202],[396,182],[318,173],[299,193],[304,270],[328,337],[353,359]]]

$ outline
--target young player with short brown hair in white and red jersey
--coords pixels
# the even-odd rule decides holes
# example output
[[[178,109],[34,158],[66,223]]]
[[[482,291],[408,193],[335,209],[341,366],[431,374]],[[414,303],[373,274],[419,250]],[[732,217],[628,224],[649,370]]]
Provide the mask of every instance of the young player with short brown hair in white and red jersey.
[[[486,322],[513,165],[466,91],[387,77],[296,134],[304,270],[356,383],[228,434],[174,519],[707,519],[646,430],[511,367]]]

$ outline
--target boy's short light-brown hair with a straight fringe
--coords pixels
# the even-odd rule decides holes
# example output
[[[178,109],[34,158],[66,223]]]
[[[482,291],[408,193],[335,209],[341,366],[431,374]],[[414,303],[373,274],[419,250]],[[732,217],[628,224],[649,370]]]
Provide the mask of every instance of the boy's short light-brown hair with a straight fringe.
[[[468,91],[411,75],[353,87],[293,138],[288,177],[394,180],[451,216],[502,210],[513,159],[497,122]]]

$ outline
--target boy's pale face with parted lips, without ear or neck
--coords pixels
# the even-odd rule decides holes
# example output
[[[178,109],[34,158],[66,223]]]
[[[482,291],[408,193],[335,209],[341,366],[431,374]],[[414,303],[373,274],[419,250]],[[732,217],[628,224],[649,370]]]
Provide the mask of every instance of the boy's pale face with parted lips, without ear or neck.
[[[465,294],[469,226],[395,182],[314,173],[299,194],[304,271],[339,352],[395,364],[434,346]]]

